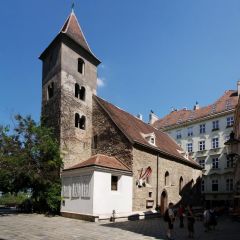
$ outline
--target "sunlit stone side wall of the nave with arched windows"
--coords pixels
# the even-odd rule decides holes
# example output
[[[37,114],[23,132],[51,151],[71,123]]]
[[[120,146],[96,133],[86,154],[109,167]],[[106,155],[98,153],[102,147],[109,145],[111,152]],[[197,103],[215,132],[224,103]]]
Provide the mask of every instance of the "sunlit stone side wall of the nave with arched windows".
[[[141,168],[144,170],[147,167],[151,167],[152,174],[149,184],[145,187],[138,187],[136,182],[139,178]],[[165,186],[164,179],[166,171],[169,172],[169,184]],[[190,166],[178,163],[173,160],[159,157],[159,169],[158,169],[158,205],[161,203],[161,194],[165,190],[168,196],[168,203],[171,201],[174,204],[181,200],[179,195],[179,180],[183,178],[183,188],[193,179],[196,183],[197,179],[201,176],[201,170],[196,170]],[[193,183],[193,184],[194,184]],[[152,197],[149,197],[149,192],[152,192]],[[141,148],[133,149],[133,211],[146,211],[147,200],[154,200],[154,206],[156,207],[156,192],[157,192],[157,154],[147,152]]]

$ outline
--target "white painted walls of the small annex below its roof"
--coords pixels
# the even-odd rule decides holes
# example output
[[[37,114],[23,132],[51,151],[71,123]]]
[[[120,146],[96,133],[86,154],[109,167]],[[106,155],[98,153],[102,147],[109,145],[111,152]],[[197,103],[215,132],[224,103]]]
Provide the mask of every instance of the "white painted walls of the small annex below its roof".
[[[118,190],[111,191],[111,175],[118,176]],[[72,197],[72,182],[76,177],[91,175],[89,198]],[[113,210],[117,214],[132,212],[132,176],[122,175],[111,170],[97,171],[93,168],[82,168],[62,173],[62,188],[71,185],[69,197],[62,197],[65,204],[61,204],[61,212],[89,214],[97,216],[111,216]],[[62,202],[63,202],[62,201]]]

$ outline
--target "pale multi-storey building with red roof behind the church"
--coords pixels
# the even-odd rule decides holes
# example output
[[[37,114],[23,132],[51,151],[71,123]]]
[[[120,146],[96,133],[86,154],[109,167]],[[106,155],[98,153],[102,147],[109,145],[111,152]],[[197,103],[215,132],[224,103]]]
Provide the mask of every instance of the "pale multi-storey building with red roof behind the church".
[[[226,91],[214,104],[174,110],[153,125],[167,132],[203,168],[201,192],[211,205],[232,205],[234,162],[224,143],[233,131],[236,91]]]

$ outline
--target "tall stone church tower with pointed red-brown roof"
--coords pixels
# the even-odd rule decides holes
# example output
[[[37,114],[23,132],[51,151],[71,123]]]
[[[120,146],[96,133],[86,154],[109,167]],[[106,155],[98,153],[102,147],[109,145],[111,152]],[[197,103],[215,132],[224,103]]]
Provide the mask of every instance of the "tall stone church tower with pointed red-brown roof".
[[[40,59],[42,121],[54,129],[66,168],[91,156],[92,96],[100,64],[73,11]]]

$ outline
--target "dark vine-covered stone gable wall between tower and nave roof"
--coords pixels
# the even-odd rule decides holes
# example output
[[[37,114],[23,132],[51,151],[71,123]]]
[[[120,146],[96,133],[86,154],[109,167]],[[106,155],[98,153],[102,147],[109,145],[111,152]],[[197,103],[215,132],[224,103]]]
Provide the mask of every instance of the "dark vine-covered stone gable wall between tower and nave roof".
[[[132,169],[132,146],[128,139],[116,127],[96,100],[93,99],[93,136],[97,136],[97,153],[114,156]]]

